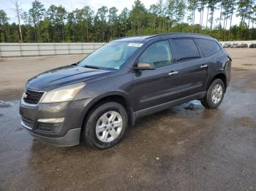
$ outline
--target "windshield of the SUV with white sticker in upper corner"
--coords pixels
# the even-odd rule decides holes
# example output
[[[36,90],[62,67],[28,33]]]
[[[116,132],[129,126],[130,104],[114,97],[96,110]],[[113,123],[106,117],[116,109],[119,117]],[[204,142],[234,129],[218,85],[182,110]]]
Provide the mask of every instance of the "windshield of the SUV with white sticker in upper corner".
[[[91,53],[78,66],[94,69],[118,70],[125,61],[141,47],[140,43],[110,42]]]

